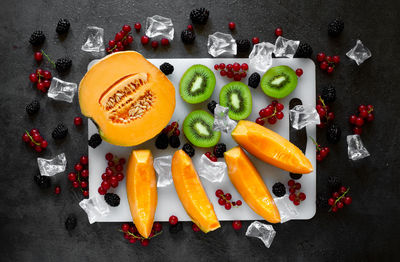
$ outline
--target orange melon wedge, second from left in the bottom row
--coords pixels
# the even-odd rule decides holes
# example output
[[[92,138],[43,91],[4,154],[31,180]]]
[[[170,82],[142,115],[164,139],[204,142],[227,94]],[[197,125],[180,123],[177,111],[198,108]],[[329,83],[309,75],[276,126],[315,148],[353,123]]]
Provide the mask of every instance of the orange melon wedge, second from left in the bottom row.
[[[176,151],[172,157],[171,171],[176,193],[193,223],[204,233],[219,228],[214,207],[204,191],[192,159],[183,150]]]

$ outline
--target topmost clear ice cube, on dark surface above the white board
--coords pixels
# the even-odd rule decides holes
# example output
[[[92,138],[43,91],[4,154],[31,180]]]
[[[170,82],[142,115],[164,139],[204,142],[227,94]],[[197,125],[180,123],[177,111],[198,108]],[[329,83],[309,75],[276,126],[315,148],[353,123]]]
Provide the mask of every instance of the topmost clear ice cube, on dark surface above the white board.
[[[169,40],[174,39],[174,24],[171,18],[162,17],[160,15],[154,15],[147,17],[146,19],[146,32],[150,38],[157,36],[168,38]]]

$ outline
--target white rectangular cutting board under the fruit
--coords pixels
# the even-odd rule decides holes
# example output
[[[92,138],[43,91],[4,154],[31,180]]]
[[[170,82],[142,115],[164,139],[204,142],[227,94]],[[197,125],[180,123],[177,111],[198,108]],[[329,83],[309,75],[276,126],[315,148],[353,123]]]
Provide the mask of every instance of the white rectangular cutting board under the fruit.
[[[233,64],[234,62],[238,63],[248,63],[249,60],[246,58],[190,58],[190,59],[149,59],[151,63],[155,66],[159,67],[164,62],[169,62],[175,68],[173,74],[169,75],[168,78],[175,86],[176,93],[176,108],[174,115],[172,116],[172,121],[177,121],[181,126],[185,116],[195,110],[195,109],[204,109],[207,110],[207,103],[205,101],[201,104],[190,105],[184,102],[179,95],[179,80],[183,73],[194,64],[203,64],[208,66],[216,76],[216,86],[214,93],[211,99],[218,102],[218,96],[220,89],[227,83],[231,82],[231,79],[227,77],[221,77],[219,72],[214,70],[214,64],[216,63],[225,63],[225,64]],[[92,64],[92,63],[91,63]],[[250,64],[249,64],[250,65]],[[310,59],[288,59],[288,58],[280,58],[273,59],[272,66],[278,65],[288,65],[294,70],[297,68],[302,68],[304,74],[299,78],[297,88],[286,98],[281,99],[280,102],[284,104],[284,114],[285,117],[278,121],[275,125],[266,124],[266,127],[271,128],[275,132],[278,132],[285,138],[289,138],[289,116],[288,116],[288,107],[289,101],[292,98],[300,98],[304,105],[312,105],[315,107],[316,95],[315,95],[315,65]],[[248,72],[248,76],[253,73],[254,70],[250,66],[250,70]],[[259,72],[262,76],[264,72]],[[247,84],[247,77],[242,79],[244,83]],[[258,117],[258,111],[261,108],[266,107],[272,99],[267,97],[261,90],[260,87],[257,89],[250,88],[252,97],[253,97],[253,111],[249,116],[249,120],[254,121]],[[92,121],[88,121],[88,136],[94,133],[97,133],[96,126],[92,123]],[[307,135],[315,137],[316,132],[315,126],[307,127]],[[181,147],[187,141],[181,132],[180,135]],[[89,167],[90,167],[90,176],[89,176],[89,194],[90,196],[98,195],[98,188],[101,184],[101,174],[104,173],[105,168],[107,167],[107,162],[105,160],[105,154],[107,152],[111,152],[118,157],[124,157],[128,160],[129,154],[133,148],[137,149],[150,149],[153,153],[154,158],[165,155],[172,155],[176,149],[168,147],[166,150],[158,150],[154,146],[155,140],[152,139],[144,144],[141,144],[136,147],[119,147],[111,145],[105,141],[101,143],[96,149],[89,147]],[[236,146],[236,143],[232,140],[230,135],[222,134],[220,142],[223,142],[227,145],[227,148],[230,149]],[[193,162],[195,167],[199,164],[199,159],[201,154],[206,151],[210,151],[210,149],[200,149],[195,148],[196,154],[193,157]],[[302,185],[301,191],[305,192],[307,195],[307,199],[300,204],[300,206],[296,207],[299,215],[296,219],[310,219],[315,214],[315,197],[316,197],[316,159],[315,159],[315,146],[312,144],[312,141],[308,138],[307,141],[307,150],[306,156],[311,161],[314,171],[310,174],[303,175],[299,182]],[[268,189],[272,194],[272,186],[275,182],[282,182],[287,185],[288,180],[290,179],[289,173],[278,168],[275,168],[269,164],[266,164],[258,159],[250,156],[250,159],[253,161],[257,170],[260,172],[263,177]],[[220,158],[219,161],[223,161],[223,158]],[[126,170],[126,165],[124,171]],[[124,173],[125,174],[125,173]],[[207,192],[207,195],[214,205],[215,212],[219,220],[262,220],[260,216],[251,210],[246,203],[243,201],[239,193],[231,184],[229,177],[226,175],[221,183],[211,183],[204,178],[200,178],[203,186]],[[122,182],[120,182],[119,186],[116,189],[111,188],[108,192],[114,192],[118,194],[121,198],[121,203],[118,207],[110,207],[111,213],[98,220],[98,222],[125,222],[132,221],[131,214],[129,211],[128,200],[126,197],[125,190],[125,178]],[[232,194],[232,200],[236,201],[238,199],[242,200],[243,205],[239,208],[232,208],[231,210],[225,210],[223,206],[218,204],[218,199],[215,196],[215,191],[217,189],[222,189],[224,192],[229,192]],[[186,214],[181,202],[179,201],[178,195],[176,194],[175,187],[173,184],[158,188],[158,204],[155,214],[155,221],[168,221],[171,215],[175,215],[178,217],[180,221],[190,221],[189,216]]]

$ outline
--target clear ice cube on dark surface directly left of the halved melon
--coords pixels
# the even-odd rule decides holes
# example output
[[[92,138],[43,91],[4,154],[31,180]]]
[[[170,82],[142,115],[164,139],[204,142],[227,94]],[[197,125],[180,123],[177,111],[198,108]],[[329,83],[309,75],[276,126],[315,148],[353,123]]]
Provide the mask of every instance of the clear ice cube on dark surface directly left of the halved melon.
[[[65,101],[72,103],[74,100],[74,95],[78,85],[75,83],[70,83],[53,77],[51,79],[51,84],[47,96],[53,98],[54,100]]]

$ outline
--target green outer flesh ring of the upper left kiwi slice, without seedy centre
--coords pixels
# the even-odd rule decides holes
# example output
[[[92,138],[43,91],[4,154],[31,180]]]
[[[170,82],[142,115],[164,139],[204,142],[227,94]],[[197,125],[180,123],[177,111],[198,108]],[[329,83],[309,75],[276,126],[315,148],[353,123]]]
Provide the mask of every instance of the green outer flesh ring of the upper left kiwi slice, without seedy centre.
[[[186,78],[188,78],[188,79],[191,78],[190,75],[193,73],[195,68],[202,68],[202,70],[208,72],[208,74],[209,74],[209,78],[208,78],[208,80],[209,80],[209,88],[207,88],[206,92],[201,94],[201,95],[198,95],[198,96],[195,96],[195,97],[185,97],[183,95],[184,94],[184,89],[185,89],[185,86],[183,84],[185,82],[184,80],[186,80]],[[182,99],[185,102],[187,102],[189,104],[198,104],[198,103],[206,101],[207,99],[209,99],[211,97],[212,93],[214,92],[215,83],[216,83],[216,80],[215,80],[214,72],[211,71],[208,67],[206,67],[204,65],[192,65],[191,67],[189,67],[186,70],[186,72],[183,74],[183,76],[182,76],[182,78],[181,78],[181,80],[179,82],[179,94],[181,95]]]

